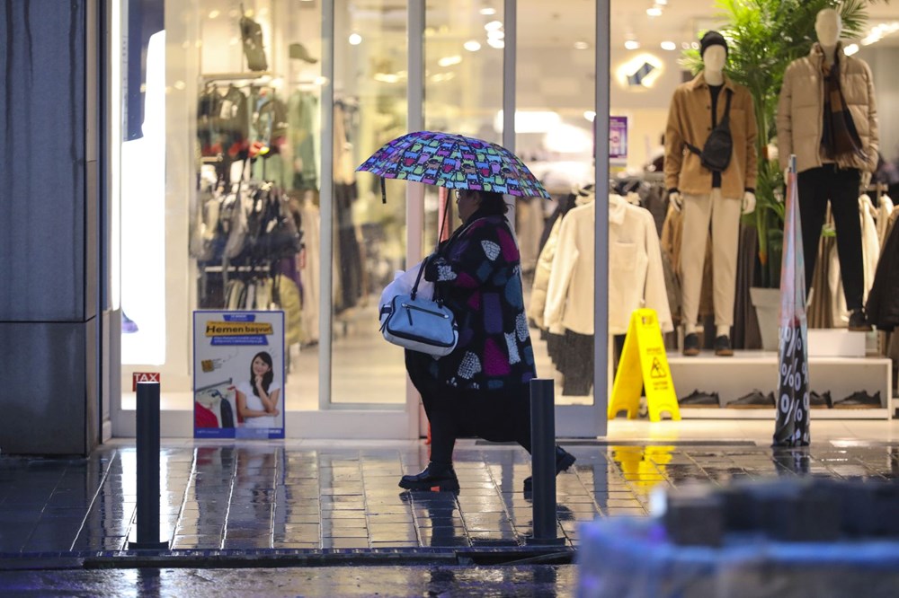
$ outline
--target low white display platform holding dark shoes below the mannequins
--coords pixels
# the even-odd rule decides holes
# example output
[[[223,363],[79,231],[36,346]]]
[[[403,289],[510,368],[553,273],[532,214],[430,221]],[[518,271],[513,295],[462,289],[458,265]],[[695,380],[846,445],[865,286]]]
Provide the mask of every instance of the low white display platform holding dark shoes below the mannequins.
[[[880,392],[881,409],[810,409],[817,419],[889,419],[895,409],[891,388],[892,360],[873,357],[809,357],[811,390],[830,391],[834,401],[856,391]],[[752,391],[768,394],[778,385],[778,354],[774,351],[735,351],[719,357],[713,351],[686,357],[668,353],[674,389],[679,399],[691,392],[717,392],[720,408],[682,408],[681,418],[774,419],[774,409],[728,409],[727,403]]]

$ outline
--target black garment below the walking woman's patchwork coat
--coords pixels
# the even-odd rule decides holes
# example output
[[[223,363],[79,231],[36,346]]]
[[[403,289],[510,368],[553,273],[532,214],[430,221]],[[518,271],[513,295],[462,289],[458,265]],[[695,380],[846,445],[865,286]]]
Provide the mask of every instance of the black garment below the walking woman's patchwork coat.
[[[530,385],[502,391],[465,391],[446,386],[424,368],[431,356],[405,351],[405,367],[422,395],[431,424],[431,461],[451,463],[459,436],[516,442],[530,453]]]

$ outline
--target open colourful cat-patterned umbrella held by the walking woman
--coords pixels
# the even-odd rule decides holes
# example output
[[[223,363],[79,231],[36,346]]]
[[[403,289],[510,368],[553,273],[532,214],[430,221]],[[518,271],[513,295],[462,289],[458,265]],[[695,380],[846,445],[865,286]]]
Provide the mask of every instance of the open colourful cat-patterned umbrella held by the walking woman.
[[[549,198],[537,177],[502,145],[439,131],[418,131],[397,137],[371,154],[356,170],[380,176],[382,189],[384,179],[398,179],[447,189]]]

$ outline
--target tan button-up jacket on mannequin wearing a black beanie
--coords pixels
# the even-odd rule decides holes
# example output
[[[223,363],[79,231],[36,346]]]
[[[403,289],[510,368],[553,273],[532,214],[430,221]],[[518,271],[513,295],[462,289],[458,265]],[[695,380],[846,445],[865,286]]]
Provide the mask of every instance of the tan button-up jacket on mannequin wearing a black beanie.
[[[734,141],[731,161],[721,173],[721,195],[743,199],[746,189],[755,189],[758,175],[755,138],[758,128],[752,95],[743,85],[725,75],[724,89],[717,101],[716,123],[725,115],[726,92],[733,92],[730,107],[730,132]],[[702,149],[712,132],[711,93],[705,75],[699,73],[689,83],[674,90],[668,124],[665,127],[665,187],[690,195],[707,195],[712,190],[712,171],[690,152],[686,144]]]

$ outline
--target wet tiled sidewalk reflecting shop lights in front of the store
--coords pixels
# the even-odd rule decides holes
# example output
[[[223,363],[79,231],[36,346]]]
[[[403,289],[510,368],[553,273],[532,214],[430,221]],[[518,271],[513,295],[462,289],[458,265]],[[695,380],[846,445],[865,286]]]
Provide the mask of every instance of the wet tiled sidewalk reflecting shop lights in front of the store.
[[[648,514],[654,488],[899,473],[899,449],[891,445],[568,448],[578,461],[556,479],[556,514],[557,534],[569,546],[578,544],[579,522]],[[121,550],[137,540],[135,457],[133,445],[120,444],[87,459],[0,459],[0,552]],[[461,444],[458,495],[397,488],[405,471],[425,462],[426,446],[414,442],[164,446],[160,537],[173,549],[369,549],[512,547],[532,534],[533,505],[522,489],[530,458],[520,448]]]

